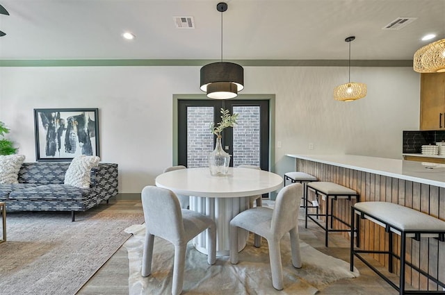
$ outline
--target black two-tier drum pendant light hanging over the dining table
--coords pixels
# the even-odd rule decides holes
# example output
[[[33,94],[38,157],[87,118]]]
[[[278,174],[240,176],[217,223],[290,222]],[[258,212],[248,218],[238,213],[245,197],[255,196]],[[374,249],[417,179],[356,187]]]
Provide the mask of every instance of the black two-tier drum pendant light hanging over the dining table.
[[[223,12],[227,3],[218,3],[216,10],[221,12],[221,61],[201,68],[200,89],[210,99],[233,99],[244,88],[244,69],[236,63],[223,62]]]

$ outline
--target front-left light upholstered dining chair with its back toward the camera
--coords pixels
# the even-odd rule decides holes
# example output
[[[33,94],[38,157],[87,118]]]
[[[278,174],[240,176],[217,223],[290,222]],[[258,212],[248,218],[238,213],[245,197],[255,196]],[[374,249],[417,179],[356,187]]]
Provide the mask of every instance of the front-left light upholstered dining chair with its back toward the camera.
[[[199,233],[208,230],[209,253],[207,262],[216,261],[216,224],[213,219],[195,211],[181,209],[174,192],[155,186],[146,186],[141,194],[145,218],[145,241],[142,276],[152,273],[154,237],[161,237],[175,246],[172,295],[181,294],[184,283],[187,243]]]

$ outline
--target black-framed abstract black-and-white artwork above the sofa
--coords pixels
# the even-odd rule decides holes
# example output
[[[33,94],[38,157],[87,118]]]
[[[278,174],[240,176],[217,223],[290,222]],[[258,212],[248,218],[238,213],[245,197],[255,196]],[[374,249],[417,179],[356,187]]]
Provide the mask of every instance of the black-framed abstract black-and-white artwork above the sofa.
[[[38,162],[99,156],[98,108],[35,108],[34,126]]]

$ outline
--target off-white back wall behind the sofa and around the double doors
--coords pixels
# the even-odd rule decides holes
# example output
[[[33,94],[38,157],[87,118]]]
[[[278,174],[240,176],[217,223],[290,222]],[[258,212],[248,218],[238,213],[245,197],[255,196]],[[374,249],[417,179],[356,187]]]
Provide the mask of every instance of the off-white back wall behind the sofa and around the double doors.
[[[0,121],[35,160],[34,108],[99,108],[100,154],[120,169],[120,192],[138,193],[172,165],[172,95],[199,94],[200,67],[0,67]],[[410,67],[351,69],[368,95],[342,103],[346,67],[245,67],[241,94],[275,94],[273,170],[286,153],[401,158],[402,130],[419,128],[419,74]],[[314,150],[308,144],[314,144]]]

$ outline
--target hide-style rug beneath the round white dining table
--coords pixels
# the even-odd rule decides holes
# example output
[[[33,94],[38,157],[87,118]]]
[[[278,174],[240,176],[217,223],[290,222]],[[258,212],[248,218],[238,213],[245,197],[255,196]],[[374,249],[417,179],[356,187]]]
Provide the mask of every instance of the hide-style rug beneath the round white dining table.
[[[172,244],[156,237],[152,274],[140,276],[145,225],[126,229],[133,237],[124,243],[129,255],[129,294],[171,294],[174,248]],[[238,264],[231,264],[229,257],[217,257],[216,264],[207,264],[204,255],[188,243],[183,294],[292,294],[312,295],[341,278],[355,278],[359,272],[349,271],[349,263],[325,255],[304,242],[300,242],[302,268],[291,263],[289,234],[282,239],[284,290],[272,286],[268,246],[265,239],[260,248],[253,246],[250,235],[247,246],[239,254]]]

